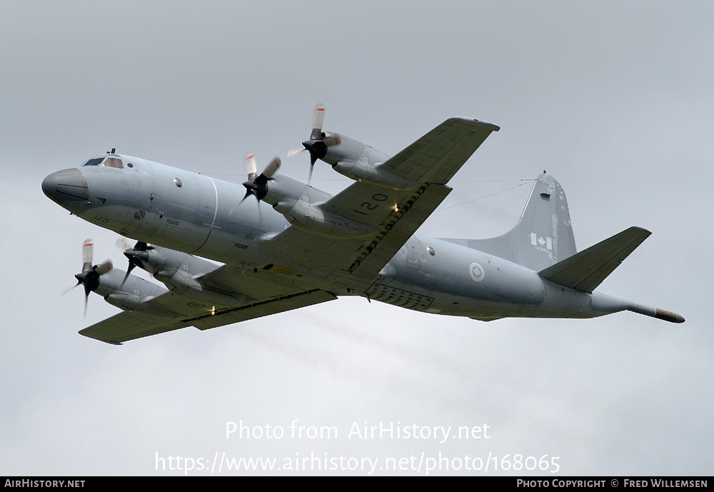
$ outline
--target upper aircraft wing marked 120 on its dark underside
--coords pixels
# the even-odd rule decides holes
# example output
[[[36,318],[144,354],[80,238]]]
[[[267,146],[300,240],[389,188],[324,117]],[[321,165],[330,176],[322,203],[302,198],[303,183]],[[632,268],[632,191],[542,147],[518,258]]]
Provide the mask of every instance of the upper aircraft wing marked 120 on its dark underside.
[[[351,273],[374,278],[451,192],[451,177],[498,126],[451,118],[381,166],[421,186],[403,191],[356,182],[333,196],[323,208],[348,221],[372,228],[359,239],[336,239],[289,227],[268,247],[285,258],[286,268],[302,265],[324,273]]]

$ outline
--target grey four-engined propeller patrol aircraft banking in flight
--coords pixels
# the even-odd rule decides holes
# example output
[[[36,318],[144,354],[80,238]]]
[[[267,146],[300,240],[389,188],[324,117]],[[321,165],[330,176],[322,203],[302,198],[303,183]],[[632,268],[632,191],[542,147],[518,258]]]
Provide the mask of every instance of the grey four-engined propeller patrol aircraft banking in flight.
[[[258,174],[252,155],[243,186],[114,149],[47,176],[44,193],[71,214],[138,240],[122,243],[127,271],[111,262],[93,266],[92,243],[85,241],[84,266],[76,275],[85,309],[94,291],[123,311],[79,333],[121,344],[338,296],[480,321],[593,318],[625,310],[684,321],[595,290],[650,232],[630,227],[578,252],[565,193],[545,172],[521,219],[502,236],[415,234],[451,191],[448,181],[498,126],[450,118],[390,157],[324,132],[324,110],[316,106],[303,150],[310,174],[321,160],[354,180],[334,196],[278,174],[279,159]],[[258,205],[242,205],[251,196]],[[136,266],[166,287],[131,273]]]

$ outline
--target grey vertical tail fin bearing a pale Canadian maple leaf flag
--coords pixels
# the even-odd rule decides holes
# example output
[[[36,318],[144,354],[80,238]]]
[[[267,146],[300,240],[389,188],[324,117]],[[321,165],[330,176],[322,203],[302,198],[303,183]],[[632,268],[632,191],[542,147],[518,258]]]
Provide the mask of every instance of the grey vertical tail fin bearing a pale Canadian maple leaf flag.
[[[511,231],[491,239],[450,239],[469,248],[541,271],[573,256],[575,238],[565,192],[548,174],[535,180],[521,219]]]

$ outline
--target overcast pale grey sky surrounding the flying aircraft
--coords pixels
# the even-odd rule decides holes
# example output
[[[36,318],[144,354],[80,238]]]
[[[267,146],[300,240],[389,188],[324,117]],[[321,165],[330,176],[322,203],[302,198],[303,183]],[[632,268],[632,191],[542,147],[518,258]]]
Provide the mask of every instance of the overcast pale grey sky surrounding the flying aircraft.
[[[225,453],[278,473],[367,474],[363,458],[381,474],[423,475],[411,466],[428,458],[451,467],[434,474],[513,473],[501,460],[520,454],[558,457],[560,475],[710,475],[713,24],[710,1],[0,0],[0,473],[181,474],[161,466]],[[306,154],[284,157],[318,102],[326,130],[388,154],[449,116],[500,125],[420,232],[502,234],[530,191],[519,180],[546,169],[579,248],[653,232],[601,289],[686,323],[481,323],[349,298],[120,347],[77,334],[118,312],[93,294],[83,320],[81,289],[60,296],[82,241],[124,258],[46,199],[44,176],[116,147],[236,182],[246,152],[278,155],[306,179]],[[346,184],[316,165],[313,185]],[[226,438],[240,421],[285,434]],[[293,421],[337,434],[291,438]],[[354,423],[489,437],[361,439]],[[312,457],[359,464],[285,470]],[[488,472],[465,469],[476,458]]]

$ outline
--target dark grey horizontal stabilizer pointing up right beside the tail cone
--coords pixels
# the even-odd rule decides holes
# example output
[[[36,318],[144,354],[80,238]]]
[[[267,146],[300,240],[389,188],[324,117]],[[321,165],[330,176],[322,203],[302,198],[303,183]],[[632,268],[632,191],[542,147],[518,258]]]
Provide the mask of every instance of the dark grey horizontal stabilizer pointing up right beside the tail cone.
[[[538,275],[561,286],[592,292],[650,234],[650,231],[640,227],[630,227],[553,266],[548,266]]]

